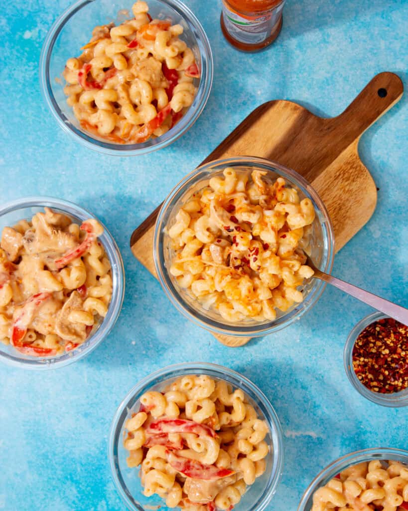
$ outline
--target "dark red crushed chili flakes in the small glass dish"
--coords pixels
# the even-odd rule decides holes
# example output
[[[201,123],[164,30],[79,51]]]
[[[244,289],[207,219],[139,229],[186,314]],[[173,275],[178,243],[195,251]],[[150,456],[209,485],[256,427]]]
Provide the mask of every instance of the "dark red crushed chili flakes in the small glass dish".
[[[353,369],[369,390],[382,394],[408,387],[408,327],[392,318],[369,324],[356,339]]]

